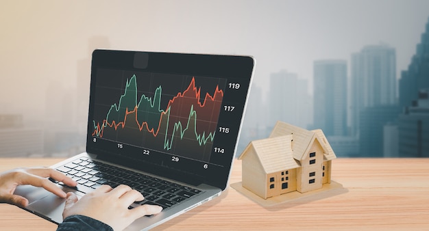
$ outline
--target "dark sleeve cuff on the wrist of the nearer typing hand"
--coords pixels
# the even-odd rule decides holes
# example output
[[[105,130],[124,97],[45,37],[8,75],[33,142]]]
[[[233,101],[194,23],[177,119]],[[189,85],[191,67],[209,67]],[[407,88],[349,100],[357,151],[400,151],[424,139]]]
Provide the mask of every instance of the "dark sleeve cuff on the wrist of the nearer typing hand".
[[[92,231],[92,230],[108,230],[113,231],[112,227],[106,223],[83,215],[72,215],[66,217],[62,223],[58,225],[57,231]]]

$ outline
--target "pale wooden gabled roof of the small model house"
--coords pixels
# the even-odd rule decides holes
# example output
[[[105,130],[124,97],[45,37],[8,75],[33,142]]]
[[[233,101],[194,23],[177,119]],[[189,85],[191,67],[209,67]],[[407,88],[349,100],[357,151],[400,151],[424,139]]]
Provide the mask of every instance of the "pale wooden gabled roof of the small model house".
[[[308,131],[285,122],[277,122],[267,139],[251,141],[238,159],[243,159],[250,149],[254,149],[267,174],[300,167],[299,161],[315,140],[323,148],[323,159],[331,160],[336,156],[321,129]]]

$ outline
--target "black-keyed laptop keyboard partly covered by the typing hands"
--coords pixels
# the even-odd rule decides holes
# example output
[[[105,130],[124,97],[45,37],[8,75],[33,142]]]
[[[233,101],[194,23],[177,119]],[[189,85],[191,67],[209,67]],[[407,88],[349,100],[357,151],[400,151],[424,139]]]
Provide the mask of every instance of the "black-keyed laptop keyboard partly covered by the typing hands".
[[[165,210],[201,193],[193,187],[179,185],[154,176],[132,172],[121,167],[108,165],[82,157],[56,168],[77,181],[77,191],[88,193],[101,185],[128,185],[143,194],[145,200],[134,202],[129,208],[143,204],[156,204]],[[53,182],[57,182],[53,180]],[[57,182],[62,184],[62,182]]]

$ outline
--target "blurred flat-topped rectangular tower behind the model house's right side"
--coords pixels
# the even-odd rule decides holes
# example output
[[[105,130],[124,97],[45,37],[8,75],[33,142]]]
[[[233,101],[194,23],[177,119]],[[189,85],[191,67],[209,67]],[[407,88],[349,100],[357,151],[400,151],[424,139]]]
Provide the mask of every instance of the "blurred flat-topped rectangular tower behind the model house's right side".
[[[313,126],[327,136],[347,135],[347,62],[314,62]]]

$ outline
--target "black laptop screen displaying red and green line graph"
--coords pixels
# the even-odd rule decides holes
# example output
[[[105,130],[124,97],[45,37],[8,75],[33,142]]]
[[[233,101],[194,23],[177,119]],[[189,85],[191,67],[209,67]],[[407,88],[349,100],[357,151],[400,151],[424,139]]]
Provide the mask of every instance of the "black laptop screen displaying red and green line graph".
[[[225,189],[254,60],[96,50],[87,152]]]

